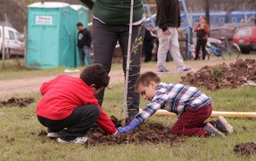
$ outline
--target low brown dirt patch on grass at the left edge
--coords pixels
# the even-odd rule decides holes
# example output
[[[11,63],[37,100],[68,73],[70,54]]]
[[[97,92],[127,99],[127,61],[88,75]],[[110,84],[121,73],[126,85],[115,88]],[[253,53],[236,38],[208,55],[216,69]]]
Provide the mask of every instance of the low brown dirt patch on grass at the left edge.
[[[1,106],[28,106],[31,103],[35,102],[35,99],[33,97],[11,97],[10,99],[6,101],[0,101],[0,107]]]

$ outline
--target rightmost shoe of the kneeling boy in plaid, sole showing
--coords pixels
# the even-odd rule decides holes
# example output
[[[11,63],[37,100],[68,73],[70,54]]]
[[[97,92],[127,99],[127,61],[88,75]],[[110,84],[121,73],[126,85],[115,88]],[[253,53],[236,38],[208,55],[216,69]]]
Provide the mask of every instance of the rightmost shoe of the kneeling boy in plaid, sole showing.
[[[225,134],[230,134],[234,132],[234,127],[225,120],[224,116],[218,116],[216,118],[215,124],[216,129]]]

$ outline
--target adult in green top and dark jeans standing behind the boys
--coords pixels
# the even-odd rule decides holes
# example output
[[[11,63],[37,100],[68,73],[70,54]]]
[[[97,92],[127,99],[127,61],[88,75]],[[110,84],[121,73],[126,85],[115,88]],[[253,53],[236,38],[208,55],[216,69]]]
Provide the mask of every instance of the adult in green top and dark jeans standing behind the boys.
[[[119,41],[122,51],[122,68],[126,75],[128,57],[128,36],[130,20],[130,1],[119,0],[81,0],[93,11],[93,55],[94,64],[103,64],[110,72],[113,52]],[[134,0],[131,36],[130,65],[128,72],[128,116],[134,117],[138,113],[139,95],[134,86],[140,74],[140,55],[144,38],[143,21],[145,14],[141,0]],[[97,96],[102,105],[104,90]]]

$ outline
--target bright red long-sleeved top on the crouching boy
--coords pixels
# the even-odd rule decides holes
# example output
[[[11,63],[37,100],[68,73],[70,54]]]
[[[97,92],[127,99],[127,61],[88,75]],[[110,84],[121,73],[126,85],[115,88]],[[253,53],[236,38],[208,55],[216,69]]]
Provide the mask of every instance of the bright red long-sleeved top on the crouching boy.
[[[40,99],[36,114],[51,119],[62,120],[69,116],[75,107],[84,105],[99,106],[101,114],[96,123],[104,130],[115,133],[116,127],[98,104],[91,89],[83,80],[69,75],[59,75],[44,82],[40,87]]]

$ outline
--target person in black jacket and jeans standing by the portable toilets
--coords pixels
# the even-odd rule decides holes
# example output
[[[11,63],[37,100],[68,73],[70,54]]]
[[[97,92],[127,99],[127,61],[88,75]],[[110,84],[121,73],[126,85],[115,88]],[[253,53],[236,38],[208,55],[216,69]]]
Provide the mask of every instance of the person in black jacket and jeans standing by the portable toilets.
[[[78,33],[77,33],[77,47],[79,51],[79,58],[81,66],[84,66],[84,57],[88,61],[88,65],[93,64],[93,59],[91,58],[91,43],[92,36],[91,32],[84,28],[83,23],[78,22],[76,24]]]

